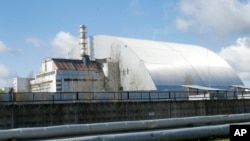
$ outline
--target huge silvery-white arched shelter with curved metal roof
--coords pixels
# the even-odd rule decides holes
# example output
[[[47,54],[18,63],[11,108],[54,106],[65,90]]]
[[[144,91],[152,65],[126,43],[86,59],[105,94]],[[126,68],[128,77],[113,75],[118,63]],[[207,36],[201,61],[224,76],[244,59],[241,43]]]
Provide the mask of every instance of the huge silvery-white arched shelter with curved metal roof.
[[[128,83],[157,90],[187,83],[217,88],[243,84],[225,60],[200,46],[100,35],[90,37],[89,49],[92,59],[122,63],[120,69],[130,72],[123,76],[127,90],[134,90]]]

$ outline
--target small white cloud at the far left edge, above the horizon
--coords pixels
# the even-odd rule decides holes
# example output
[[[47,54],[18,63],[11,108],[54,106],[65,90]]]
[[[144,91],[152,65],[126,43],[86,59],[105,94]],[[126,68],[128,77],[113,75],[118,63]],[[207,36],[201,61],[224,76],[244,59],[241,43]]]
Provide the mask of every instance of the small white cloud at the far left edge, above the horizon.
[[[11,87],[12,86],[12,80],[14,77],[13,72],[9,70],[4,65],[0,64],[0,87]]]

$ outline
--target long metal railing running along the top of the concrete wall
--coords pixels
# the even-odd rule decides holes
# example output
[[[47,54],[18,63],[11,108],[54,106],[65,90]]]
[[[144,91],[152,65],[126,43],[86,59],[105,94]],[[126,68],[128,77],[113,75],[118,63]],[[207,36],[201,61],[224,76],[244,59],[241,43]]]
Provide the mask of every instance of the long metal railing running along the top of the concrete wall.
[[[250,99],[249,91],[127,91],[0,94],[0,104]]]

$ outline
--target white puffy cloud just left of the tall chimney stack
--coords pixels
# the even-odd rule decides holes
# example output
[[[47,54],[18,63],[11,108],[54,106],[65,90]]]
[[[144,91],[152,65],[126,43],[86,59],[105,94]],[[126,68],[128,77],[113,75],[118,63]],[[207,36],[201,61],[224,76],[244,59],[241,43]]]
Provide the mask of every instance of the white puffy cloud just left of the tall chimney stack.
[[[78,46],[79,39],[68,32],[59,32],[52,40],[53,55],[55,57],[66,57],[71,49]]]

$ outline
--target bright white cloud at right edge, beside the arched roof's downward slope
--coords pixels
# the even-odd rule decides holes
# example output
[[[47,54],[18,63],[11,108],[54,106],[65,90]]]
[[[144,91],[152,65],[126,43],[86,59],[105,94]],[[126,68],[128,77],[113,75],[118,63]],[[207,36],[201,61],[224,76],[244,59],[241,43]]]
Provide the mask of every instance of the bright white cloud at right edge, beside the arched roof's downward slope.
[[[237,41],[219,52],[244,81],[250,81],[250,38],[238,38]]]

